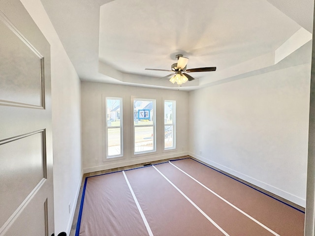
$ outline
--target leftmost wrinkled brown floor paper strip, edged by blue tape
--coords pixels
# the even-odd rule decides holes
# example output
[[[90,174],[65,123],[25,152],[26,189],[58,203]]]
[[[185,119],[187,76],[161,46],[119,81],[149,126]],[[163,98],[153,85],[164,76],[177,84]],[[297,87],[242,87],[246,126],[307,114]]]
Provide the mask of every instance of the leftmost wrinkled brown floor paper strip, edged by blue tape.
[[[122,172],[89,177],[79,236],[148,236]]]

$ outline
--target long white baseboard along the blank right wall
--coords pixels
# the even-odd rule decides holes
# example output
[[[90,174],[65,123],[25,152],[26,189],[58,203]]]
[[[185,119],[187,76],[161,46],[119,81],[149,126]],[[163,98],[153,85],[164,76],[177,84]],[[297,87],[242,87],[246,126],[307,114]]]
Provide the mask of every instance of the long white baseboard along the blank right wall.
[[[220,169],[220,170],[222,170],[222,171],[224,171],[224,172],[226,172],[226,173],[228,173],[230,175],[233,175],[235,177],[241,178],[241,179],[243,179],[243,180],[245,180],[245,181],[247,181],[247,182],[257,186],[257,187],[260,187],[262,189],[265,189],[268,192],[276,194],[277,196],[282,197],[282,198],[284,198],[284,199],[286,199],[286,200],[288,200],[288,201],[290,201],[292,203],[295,203],[295,204],[297,204],[297,205],[299,205],[301,207],[305,207],[306,206],[306,199],[302,199],[302,198],[300,198],[298,196],[295,196],[293,194],[290,194],[290,193],[288,193],[288,192],[286,192],[286,191],[284,191],[282,189],[279,189],[279,188],[274,187],[274,186],[272,186],[270,184],[262,182],[262,181],[260,181],[258,179],[255,179],[253,177],[244,175],[244,174],[242,174],[242,173],[240,173],[238,171],[235,171],[235,170],[233,170],[231,168],[228,168],[226,166],[223,166],[223,165],[221,165],[221,164],[219,164],[217,162],[214,162],[214,161],[211,161],[209,159],[206,159],[206,158],[204,158],[204,157],[202,157],[200,155],[197,155],[195,153],[189,152],[189,155],[194,157],[194,158],[196,158],[196,159],[198,159],[198,160],[200,160],[200,161],[202,161],[202,162],[204,162],[204,163],[207,163],[207,164],[209,164],[209,165],[211,165],[213,167],[216,167],[216,168],[218,168],[218,169]]]

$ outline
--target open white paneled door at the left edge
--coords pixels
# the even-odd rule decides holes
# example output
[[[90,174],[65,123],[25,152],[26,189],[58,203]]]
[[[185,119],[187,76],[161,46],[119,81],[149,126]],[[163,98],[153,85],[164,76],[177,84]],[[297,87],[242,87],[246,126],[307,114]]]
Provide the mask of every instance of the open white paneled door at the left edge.
[[[50,45],[0,0],[0,236],[54,232]]]

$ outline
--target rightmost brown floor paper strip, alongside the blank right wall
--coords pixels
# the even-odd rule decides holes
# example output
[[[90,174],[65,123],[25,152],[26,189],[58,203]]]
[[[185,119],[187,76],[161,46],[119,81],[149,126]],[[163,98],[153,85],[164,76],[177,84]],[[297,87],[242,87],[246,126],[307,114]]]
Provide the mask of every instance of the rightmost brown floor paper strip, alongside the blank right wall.
[[[304,235],[304,213],[190,158],[173,161],[172,164],[279,235]]]

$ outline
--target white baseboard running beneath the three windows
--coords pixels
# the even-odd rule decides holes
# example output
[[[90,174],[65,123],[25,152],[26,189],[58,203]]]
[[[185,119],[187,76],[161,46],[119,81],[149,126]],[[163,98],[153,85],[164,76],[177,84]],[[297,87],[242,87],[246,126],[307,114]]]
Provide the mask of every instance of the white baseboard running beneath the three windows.
[[[164,160],[168,158],[174,158],[174,157],[181,157],[181,156],[186,156],[188,155],[188,152],[176,152],[176,153],[169,153],[169,154],[163,154],[159,156],[154,156],[150,157],[150,155],[147,156],[142,156],[141,158],[135,159],[134,157],[128,158],[128,159],[121,159],[111,162],[105,162],[104,165],[101,166],[95,166],[95,167],[88,167],[83,169],[83,173],[90,173],[90,172],[95,172],[95,171],[103,171],[103,170],[108,170],[108,169],[113,169],[113,168],[119,168],[123,166],[131,166],[131,165],[137,165],[145,162],[151,162],[151,161],[159,161],[159,160]]]

